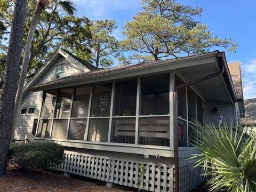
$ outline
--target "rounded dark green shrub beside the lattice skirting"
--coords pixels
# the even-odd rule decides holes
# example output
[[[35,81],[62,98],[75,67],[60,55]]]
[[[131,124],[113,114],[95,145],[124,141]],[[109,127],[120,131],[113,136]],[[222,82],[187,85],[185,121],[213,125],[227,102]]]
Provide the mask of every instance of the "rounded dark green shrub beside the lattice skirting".
[[[63,160],[64,147],[54,142],[14,143],[10,161],[27,170],[46,170]]]

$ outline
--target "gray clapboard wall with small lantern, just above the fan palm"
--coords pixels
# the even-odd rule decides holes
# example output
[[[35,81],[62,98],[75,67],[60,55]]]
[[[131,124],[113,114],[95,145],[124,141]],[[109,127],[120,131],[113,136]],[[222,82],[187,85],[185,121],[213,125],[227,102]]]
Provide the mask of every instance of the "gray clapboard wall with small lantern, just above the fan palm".
[[[213,114],[214,107],[218,109],[218,115]],[[230,125],[232,121],[233,125],[236,122],[235,114],[234,114],[234,105],[230,103],[217,103],[217,102],[209,102],[207,103],[207,112],[208,112],[208,121],[209,123],[218,126],[219,124],[219,116],[223,116],[223,123],[226,122]]]

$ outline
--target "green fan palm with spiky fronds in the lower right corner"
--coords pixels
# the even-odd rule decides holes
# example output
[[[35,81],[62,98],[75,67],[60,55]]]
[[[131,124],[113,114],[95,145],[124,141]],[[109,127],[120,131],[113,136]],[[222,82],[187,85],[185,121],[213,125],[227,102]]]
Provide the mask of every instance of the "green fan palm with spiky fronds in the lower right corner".
[[[195,168],[202,167],[202,175],[210,176],[210,191],[256,191],[255,137],[239,125],[199,124],[196,132],[199,153],[191,158]]]

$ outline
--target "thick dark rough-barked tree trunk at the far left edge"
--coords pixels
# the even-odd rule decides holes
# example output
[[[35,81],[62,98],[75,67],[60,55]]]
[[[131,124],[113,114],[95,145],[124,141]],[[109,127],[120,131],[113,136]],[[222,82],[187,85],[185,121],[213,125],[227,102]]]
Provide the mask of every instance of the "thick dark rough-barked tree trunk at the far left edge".
[[[6,172],[7,154],[11,142],[14,101],[17,91],[25,17],[26,0],[17,0],[13,12],[9,49],[0,98],[0,176]]]

